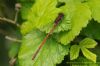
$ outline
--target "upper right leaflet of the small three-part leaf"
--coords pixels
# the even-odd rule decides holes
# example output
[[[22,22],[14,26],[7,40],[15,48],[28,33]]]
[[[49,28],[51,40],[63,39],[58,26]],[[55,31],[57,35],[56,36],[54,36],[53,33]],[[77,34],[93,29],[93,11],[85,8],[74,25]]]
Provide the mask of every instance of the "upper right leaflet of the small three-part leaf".
[[[91,38],[85,38],[79,44],[84,48],[95,48],[97,42]]]

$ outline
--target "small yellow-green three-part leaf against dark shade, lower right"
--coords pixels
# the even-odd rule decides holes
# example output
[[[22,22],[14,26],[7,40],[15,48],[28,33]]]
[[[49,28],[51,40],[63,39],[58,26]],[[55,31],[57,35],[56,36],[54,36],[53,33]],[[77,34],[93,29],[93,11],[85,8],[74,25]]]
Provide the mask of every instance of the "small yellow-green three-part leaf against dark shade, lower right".
[[[79,51],[81,49],[83,55],[96,63],[96,55],[92,52],[90,52],[87,48],[95,48],[95,46],[97,45],[96,41],[94,41],[93,39],[90,38],[85,38],[83,39],[79,45],[73,45],[71,46],[70,49],[70,59],[74,60],[77,59],[79,56]]]

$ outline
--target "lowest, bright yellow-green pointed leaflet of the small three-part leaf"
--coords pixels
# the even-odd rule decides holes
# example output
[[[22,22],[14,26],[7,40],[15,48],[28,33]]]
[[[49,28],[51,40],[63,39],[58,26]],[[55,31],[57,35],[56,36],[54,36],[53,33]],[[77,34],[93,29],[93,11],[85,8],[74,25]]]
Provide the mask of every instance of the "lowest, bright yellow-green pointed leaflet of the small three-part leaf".
[[[87,59],[89,59],[89,60],[91,60],[91,61],[93,61],[94,63],[96,63],[96,55],[94,54],[94,53],[92,53],[92,52],[90,52],[88,49],[86,49],[86,48],[81,48],[81,50],[82,50],[82,53],[83,53],[83,55],[87,58]]]

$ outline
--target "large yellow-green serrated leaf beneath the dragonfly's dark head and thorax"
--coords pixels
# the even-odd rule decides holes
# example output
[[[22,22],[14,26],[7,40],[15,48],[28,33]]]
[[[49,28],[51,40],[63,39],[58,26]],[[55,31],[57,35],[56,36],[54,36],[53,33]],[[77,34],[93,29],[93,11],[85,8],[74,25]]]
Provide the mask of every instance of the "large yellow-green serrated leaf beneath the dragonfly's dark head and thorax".
[[[46,33],[48,33],[60,12],[64,13],[64,19],[60,22],[54,32],[69,30],[71,28],[71,15],[68,13],[67,6],[65,5],[57,8],[57,0],[47,1],[46,4],[43,5],[45,2],[45,0],[37,0],[33,5],[28,14],[28,20],[22,25],[21,31],[23,34],[28,33],[34,28],[38,28],[41,31],[46,31]]]

